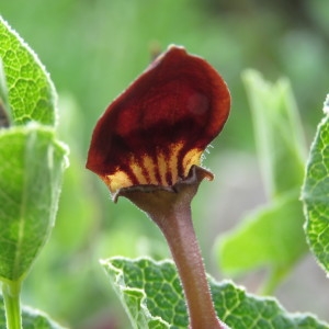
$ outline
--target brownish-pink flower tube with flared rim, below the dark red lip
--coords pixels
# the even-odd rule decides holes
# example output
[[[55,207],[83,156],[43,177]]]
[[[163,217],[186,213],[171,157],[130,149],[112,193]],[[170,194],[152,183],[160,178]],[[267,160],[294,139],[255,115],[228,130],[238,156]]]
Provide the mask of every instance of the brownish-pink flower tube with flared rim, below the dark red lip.
[[[213,174],[192,167],[189,177],[173,186],[140,185],[115,195],[129,198],[145,211],[164,235],[183,285],[190,329],[228,329],[216,316],[191,217],[191,201],[203,179]]]

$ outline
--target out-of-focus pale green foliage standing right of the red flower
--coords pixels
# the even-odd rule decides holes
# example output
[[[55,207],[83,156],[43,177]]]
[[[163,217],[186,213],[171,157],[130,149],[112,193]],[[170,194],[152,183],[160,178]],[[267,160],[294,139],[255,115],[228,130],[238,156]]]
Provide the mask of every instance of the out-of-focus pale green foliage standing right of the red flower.
[[[218,238],[217,258],[222,271],[230,274],[269,266],[271,276],[264,293],[271,293],[308,250],[298,200],[305,143],[288,81],[272,84],[252,70],[243,73],[243,81],[270,201]]]

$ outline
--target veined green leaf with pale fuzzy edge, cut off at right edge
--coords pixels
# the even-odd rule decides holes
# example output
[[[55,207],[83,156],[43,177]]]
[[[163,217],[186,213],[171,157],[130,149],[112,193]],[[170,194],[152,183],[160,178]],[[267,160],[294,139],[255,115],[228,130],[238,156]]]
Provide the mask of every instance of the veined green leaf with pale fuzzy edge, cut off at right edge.
[[[305,204],[306,236],[317,260],[329,273],[329,97],[326,117],[317,128],[311,145],[302,200]]]

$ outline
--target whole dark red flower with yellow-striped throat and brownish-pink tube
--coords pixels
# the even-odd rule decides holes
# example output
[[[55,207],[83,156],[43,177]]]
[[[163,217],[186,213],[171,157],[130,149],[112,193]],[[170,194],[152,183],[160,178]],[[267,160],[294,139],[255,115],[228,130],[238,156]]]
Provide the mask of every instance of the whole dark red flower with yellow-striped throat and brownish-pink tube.
[[[171,46],[99,120],[87,168],[158,225],[183,285],[191,329],[227,328],[214,310],[195,237],[191,201],[203,179],[202,154],[229,113],[228,88],[204,59]]]

